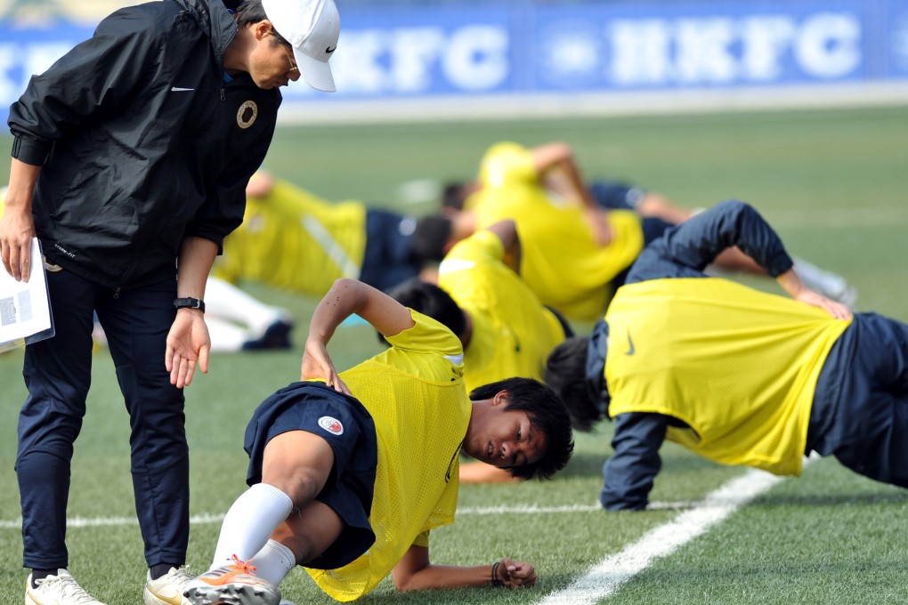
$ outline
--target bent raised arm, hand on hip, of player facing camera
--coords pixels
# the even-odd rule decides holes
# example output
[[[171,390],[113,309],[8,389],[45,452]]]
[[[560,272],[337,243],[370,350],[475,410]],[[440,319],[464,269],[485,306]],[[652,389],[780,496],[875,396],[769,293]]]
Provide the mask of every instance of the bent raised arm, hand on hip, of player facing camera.
[[[400,334],[416,325],[410,316],[410,309],[384,292],[356,279],[338,279],[312,314],[302,356],[302,380],[323,379],[334,390],[350,395],[350,390],[334,368],[327,346],[334,330],[354,314],[368,321],[385,337]]]

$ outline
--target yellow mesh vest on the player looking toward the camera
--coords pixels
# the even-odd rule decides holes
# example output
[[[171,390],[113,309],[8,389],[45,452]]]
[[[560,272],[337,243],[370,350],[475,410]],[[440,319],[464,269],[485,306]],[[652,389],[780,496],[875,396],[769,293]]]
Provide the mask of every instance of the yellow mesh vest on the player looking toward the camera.
[[[459,352],[459,341],[447,328],[411,315],[418,328],[443,330],[451,350]],[[431,379],[390,366],[383,356],[341,373],[375,420],[378,469],[370,516],[375,543],[341,569],[306,570],[336,600],[355,600],[375,588],[420,534],[454,521],[458,454],[471,411],[462,366],[451,366],[437,352],[415,355],[421,355],[420,363],[436,365]]]

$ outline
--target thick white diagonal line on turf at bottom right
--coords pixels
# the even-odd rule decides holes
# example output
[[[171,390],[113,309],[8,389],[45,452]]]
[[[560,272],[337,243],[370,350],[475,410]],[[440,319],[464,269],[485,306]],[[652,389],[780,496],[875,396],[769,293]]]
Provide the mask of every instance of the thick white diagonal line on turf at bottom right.
[[[806,460],[804,464],[806,464]],[[747,473],[725,483],[715,492],[706,495],[702,503],[679,514],[674,521],[646,532],[640,540],[629,544],[623,551],[599,561],[587,573],[573,581],[564,590],[553,592],[539,605],[591,605],[614,594],[627,581],[660,557],[676,551],[706,532],[737,508],[753,500],[760,493],[781,481],[780,477],[763,471]]]

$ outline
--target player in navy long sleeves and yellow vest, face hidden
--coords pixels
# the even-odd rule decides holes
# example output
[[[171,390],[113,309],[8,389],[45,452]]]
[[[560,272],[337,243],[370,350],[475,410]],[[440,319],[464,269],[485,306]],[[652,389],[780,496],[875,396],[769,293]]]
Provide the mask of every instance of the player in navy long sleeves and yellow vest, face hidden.
[[[738,246],[795,298],[702,272]],[[908,326],[804,288],[775,231],[725,202],[670,229],[637,259],[590,337],[546,373],[579,430],[615,418],[600,495],[643,509],[668,439],[724,464],[800,474],[833,454],[908,487]]]

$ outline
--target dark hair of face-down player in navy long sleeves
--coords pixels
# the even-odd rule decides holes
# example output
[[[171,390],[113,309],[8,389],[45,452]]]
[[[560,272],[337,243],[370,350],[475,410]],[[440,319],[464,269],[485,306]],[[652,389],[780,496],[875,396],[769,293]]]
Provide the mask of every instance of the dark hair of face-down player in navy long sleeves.
[[[571,424],[585,433],[603,417],[587,389],[588,344],[588,337],[568,338],[548,354],[545,372],[546,384],[568,408]]]

